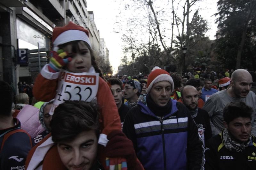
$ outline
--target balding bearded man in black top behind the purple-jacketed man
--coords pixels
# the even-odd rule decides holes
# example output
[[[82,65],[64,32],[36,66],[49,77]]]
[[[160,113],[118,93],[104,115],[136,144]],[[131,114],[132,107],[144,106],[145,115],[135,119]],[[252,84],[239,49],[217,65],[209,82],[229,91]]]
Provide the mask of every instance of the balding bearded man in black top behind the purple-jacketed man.
[[[210,125],[210,118],[208,113],[197,107],[198,104],[198,92],[192,85],[185,85],[181,90],[181,97],[183,104],[190,111],[190,115],[193,117],[198,128],[198,133],[205,142],[212,137],[212,129]]]

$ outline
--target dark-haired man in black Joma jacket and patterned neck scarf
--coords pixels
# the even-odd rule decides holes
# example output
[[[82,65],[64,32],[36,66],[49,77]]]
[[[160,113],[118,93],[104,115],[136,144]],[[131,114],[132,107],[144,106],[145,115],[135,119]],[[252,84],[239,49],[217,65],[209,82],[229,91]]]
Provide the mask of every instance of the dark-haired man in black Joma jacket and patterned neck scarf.
[[[205,144],[205,169],[255,169],[256,139],[251,135],[253,112],[252,107],[239,101],[223,109],[225,128]]]

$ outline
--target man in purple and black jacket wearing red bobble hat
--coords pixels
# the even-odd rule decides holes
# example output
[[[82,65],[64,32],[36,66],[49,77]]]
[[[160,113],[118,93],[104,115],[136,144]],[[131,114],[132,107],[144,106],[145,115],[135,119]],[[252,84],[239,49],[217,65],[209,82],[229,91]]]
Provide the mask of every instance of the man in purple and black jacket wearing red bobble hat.
[[[153,68],[147,95],[141,96],[124,120],[123,131],[132,140],[145,169],[204,169],[204,147],[185,105],[170,99],[173,80]]]

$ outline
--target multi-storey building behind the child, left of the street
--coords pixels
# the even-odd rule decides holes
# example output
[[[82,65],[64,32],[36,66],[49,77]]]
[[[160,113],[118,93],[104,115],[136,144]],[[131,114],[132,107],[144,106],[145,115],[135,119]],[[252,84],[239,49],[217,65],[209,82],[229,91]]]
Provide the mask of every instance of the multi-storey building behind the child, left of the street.
[[[17,49],[52,50],[53,28],[69,21],[88,29],[92,48],[102,53],[93,11],[86,8],[86,0],[1,0],[0,80],[16,89],[19,81],[33,81],[28,64],[18,64],[22,54]]]

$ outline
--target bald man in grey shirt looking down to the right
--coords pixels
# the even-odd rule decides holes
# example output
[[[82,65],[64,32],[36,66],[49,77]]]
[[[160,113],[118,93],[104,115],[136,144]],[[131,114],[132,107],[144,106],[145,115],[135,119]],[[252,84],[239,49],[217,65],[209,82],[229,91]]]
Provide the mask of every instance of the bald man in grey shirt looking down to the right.
[[[232,101],[242,101],[254,109],[252,113],[251,133],[256,135],[256,95],[250,91],[252,76],[244,69],[235,70],[230,80],[230,88],[214,93],[205,103],[203,109],[209,113],[212,135],[217,135],[223,126],[223,108]]]

